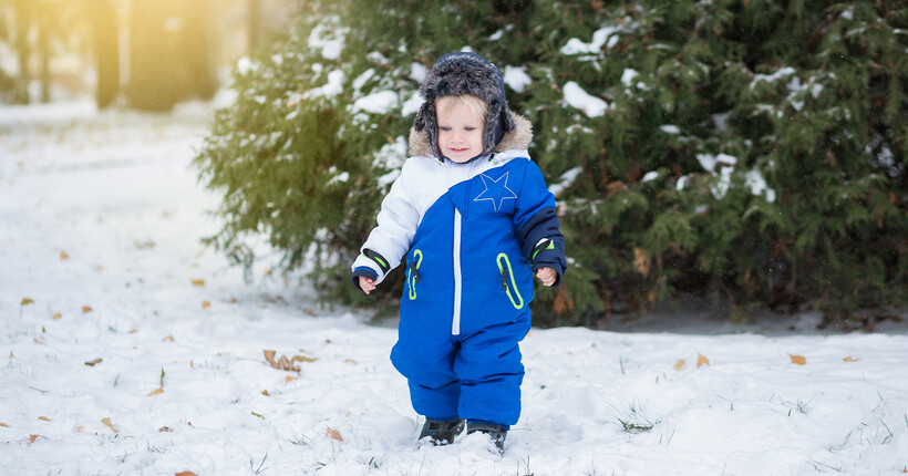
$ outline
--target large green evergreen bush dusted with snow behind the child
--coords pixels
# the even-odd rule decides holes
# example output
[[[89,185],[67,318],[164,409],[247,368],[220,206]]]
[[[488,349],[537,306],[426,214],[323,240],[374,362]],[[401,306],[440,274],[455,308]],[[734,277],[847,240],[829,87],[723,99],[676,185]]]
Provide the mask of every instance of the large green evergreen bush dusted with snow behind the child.
[[[421,71],[470,48],[530,79],[508,81],[509,103],[534,124],[572,266],[539,289],[537,323],[596,325],[679,291],[830,317],[906,298],[904,3],[306,4],[237,72],[196,159],[225,194],[211,242],[238,263],[266,235],[286,269],[350,302]],[[332,74],[342,89],[320,94]],[[400,286],[383,289],[393,304]]]

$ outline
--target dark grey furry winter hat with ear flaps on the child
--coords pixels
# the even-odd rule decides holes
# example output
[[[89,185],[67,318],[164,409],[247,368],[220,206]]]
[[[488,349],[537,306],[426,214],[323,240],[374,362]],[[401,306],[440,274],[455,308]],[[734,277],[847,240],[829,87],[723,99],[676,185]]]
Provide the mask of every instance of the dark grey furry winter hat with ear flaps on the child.
[[[432,66],[432,71],[426,74],[420,94],[425,102],[416,113],[413,128],[417,132],[425,131],[429,145],[436,157],[442,157],[435,116],[435,100],[441,97],[471,94],[488,104],[481,155],[492,153],[504,134],[516,127],[514,117],[507,108],[502,73],[478,54],[460,52],[440,58]]]

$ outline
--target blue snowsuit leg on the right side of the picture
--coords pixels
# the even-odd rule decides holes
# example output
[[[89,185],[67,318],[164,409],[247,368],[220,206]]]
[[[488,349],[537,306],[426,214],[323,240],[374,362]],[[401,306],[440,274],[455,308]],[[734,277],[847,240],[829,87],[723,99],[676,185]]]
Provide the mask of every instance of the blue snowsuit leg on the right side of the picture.
[[[458,414],[462,418],[510,426],[520,417],[519,342],[529,331],[529,319],[494,325],[461,341],[454,372],[461,379]]]

